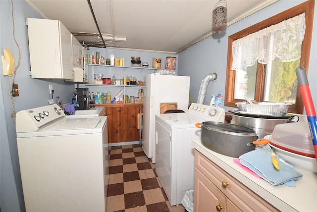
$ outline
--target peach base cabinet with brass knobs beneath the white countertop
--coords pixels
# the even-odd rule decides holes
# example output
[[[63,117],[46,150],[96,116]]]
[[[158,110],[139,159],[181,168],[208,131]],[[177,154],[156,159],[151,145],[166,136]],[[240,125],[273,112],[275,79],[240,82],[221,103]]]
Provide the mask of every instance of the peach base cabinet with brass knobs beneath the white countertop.
[[[278,211],[219,166],[195,150],[194,211]]]

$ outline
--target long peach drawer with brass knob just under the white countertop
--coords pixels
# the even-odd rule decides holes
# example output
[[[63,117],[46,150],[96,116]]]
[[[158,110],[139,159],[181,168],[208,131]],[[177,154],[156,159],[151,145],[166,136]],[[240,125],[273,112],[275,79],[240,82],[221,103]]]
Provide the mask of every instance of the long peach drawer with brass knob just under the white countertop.
[[[240,210],[278,211],[197,150],[195,150],[195,166]]]

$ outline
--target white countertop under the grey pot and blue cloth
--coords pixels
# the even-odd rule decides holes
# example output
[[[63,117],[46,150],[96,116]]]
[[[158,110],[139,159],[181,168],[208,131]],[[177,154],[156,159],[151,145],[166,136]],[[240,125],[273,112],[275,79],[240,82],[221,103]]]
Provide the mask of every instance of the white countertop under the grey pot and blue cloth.
[[[264,179],[248,173],[233,162],[232,157],[215,153],[206,148],[200,140],[192,142],[194,148],[239,180],[249,189],[282,212],[317,212],[317,174],[295,168],[303,174],[296,181],[296,187],[273,186]]]

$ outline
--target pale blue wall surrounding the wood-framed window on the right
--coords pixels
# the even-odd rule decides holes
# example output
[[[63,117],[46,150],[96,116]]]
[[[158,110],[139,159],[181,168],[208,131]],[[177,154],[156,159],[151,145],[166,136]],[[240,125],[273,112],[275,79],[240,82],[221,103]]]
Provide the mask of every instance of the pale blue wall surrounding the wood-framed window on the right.
[[[226,65],[227,65],[227,49],[228,37],[236,32],[252,26],[266,18],[285,11],[293,6],[304,2],[303,0],[280,0],[276,3],[250,15],[237,23],[228,26],[222,33],[221,38],[218,34],[214,34],[198,44],[192,46],[178,55],[178,74],[191,77],[190,90],[193,102],[197,102],[200,84],[203,77],[209,73],[217,73],[217,79],[210,82],[206,94],[205,105],[209,105],[211,95],[225,93],[226,81]],[[316,8],[316,5],[315,5]],[[316,12],[316,11],[315,11]],[[317,23],[317,15],[314,17],[315,25]],[[317,84],[313,82],[317,79],[317,27],[313,30],[311,59],[309,65],[308,80],[315,106],[317,106]],[[232,109],[224,106],[225,110]],[[305,113],[305,110],[304,110]]]

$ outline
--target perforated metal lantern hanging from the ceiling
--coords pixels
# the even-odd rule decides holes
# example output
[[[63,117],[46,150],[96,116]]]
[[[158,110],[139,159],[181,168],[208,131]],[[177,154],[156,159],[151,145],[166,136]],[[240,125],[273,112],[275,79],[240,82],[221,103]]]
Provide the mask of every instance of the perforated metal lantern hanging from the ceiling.
[[[218,6],[218,4],[224,3],[225,6]],[[212,30],[218,31],[218,34],[221,34],[221,31],[227,27],[227,2],[225,0],[219,0],[215,5],[212,11]]]

